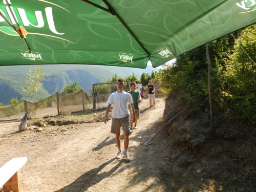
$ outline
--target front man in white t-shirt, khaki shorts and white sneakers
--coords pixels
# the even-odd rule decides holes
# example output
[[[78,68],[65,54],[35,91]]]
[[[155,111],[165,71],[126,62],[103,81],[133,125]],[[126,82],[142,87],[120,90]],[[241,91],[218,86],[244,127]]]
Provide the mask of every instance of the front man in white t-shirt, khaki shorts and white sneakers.
[[[127,153],[128,145],[129,145],[129,133],[130,133],[130,123],[135,121],[135,112],[133,106],[133,98],[132,96],[123,91],[123,79],[117,79],[117,91],[112,93],[108,99],[108,107],[106,108],[104,123],[108,121],[108,114],[111,109],[111,105],[113,104],[113,117],[111,123],[111,133],[116,134],[116,145],[118,148],[118,153],[116,158],[120,159],[122,151],[121,151],[121,141],[120,141],[120,129],[122,126],[123,136],[124,136],[124,155],[126,161],[130,161],[130,156]],[[133,119],[129,122],[129,113],[128,113],[128,104],[130,104],[133,114]]]

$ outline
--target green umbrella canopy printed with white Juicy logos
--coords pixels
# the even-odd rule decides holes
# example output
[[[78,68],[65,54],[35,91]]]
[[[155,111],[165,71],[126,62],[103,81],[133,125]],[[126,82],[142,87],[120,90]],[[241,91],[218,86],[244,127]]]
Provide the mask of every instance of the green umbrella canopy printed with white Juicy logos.
[[[0,66],[146,68],[256,22],[256,0],[1,0]]]

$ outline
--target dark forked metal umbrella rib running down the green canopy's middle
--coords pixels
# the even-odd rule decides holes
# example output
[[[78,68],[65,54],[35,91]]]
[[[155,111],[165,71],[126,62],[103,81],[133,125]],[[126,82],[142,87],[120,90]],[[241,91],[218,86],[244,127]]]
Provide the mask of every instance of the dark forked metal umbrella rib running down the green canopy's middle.
[[[106,11],[106,12],[109,12],[111,13],[112,15],[115,15],[118,20],[122,23],[122,25],[127,29],[127,31],[129,31],[129,33],[133,36],[133,38],[138,42],[138,44],[140,45],[140,47],[145,51],[145,53],[147,54],[147,56],[150,56],[150,53],[146,50],[146,48],[142,45],[142,43],[139,41],[139,39],[135,36],[135,34],[133,33],[133,31],[125,24],[125,22],[123,21],[123,19],[118,15],[118,13],[115,11],[115,9],[109,4],[108,1],[106,0],[102,0],[106,6],[108,6],[109,9],[106,9],[104,7],[101,7],[93,2],[90,2],[88,0],[81,0],[83,2],[86,2],[94,7],[97,7],[103,11]]]

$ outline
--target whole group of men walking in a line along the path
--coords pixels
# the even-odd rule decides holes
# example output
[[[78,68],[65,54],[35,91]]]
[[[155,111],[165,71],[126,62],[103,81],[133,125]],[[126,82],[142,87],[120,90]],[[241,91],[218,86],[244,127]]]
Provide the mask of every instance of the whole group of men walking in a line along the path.
[[[150,98],[150,107],[155,105],[155,87],[152,84],[152,80],[148,81],[147,93]],[[104,123],[108,121],[108,114],[113,104],[113,117],[111,123],[111,133],[116,135],[116,145],[118,148],[118,153],[116,159],[121,158],[121,141],[120,132],[121,127],[124,135],[124,151],[126,161],[130,161],[130,156],[127,153],[129,146],[129,134],[133,132],[133,123],[135,124],[134,129],[138,129],[137,120],[139,119],[139,103],[143,101],[144,88],[139,84],[139,81],[132,82],[130,84],[131,91],[123,91],[124,80],[119,78],[117,80],[117,91],[112,93],[108,99],[108,107],[106,108]],[[152,105],[153,99],[153,105]],[[130,110],[130,115],[128,112]]]

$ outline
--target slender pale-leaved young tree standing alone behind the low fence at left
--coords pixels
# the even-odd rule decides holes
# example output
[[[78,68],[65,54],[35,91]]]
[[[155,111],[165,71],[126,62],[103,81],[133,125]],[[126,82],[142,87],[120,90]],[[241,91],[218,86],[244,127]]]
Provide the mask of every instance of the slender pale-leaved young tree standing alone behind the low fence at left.
[[[26,82],[24,83],[24,87],[22,88],[25,93],[28,93],[31,95],[31,102],[33,103],[33,96],[34,93],[38,90],[42,89],[42,83],[41,81],[45,80],[48,75],[45,72],[42,72],[42,67],[40,65],[36,65],[34,70],[29,70],[28,77]],[[32,108],[32,105],[30,106]]]

